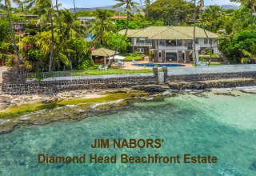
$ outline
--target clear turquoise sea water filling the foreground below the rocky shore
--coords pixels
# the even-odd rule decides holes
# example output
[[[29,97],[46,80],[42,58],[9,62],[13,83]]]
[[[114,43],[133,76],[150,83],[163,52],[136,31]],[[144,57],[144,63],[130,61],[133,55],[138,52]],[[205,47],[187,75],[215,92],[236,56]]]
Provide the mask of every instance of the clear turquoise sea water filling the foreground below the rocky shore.
[[[255,175],[256,94],[183,94],[81,122],[0,135],[0,175]],[[160,149],[91,149],[94,138],[164,138]],[[215,155],[217,164],[38,165],[38,154]]]

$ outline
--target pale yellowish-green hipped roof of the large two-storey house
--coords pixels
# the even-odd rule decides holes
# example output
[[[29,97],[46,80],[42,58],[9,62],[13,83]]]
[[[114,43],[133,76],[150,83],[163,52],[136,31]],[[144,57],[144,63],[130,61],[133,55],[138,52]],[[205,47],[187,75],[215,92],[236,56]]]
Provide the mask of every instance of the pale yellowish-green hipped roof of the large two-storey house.
[[[123,32],[121,30],[120,32]],[[119,32],[119,33],[120,33]],[[128,36],[130,38],[149,38],[149,39],[183,39],[190,40],[194,38],[194,26],[149,26],[142,30],[128,30]],[[196,27],[195,38],[218,38],[217,34],[214,34],[208,30],[205,31]]]

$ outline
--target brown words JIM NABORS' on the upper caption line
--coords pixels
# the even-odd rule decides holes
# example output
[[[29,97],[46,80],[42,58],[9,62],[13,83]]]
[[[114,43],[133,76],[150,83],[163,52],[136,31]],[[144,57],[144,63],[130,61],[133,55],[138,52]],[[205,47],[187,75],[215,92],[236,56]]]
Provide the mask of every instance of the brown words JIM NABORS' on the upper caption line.
[[[164,139],[109,139],[109,138],[96,138],[91,145],[91,148],[161,148]]]

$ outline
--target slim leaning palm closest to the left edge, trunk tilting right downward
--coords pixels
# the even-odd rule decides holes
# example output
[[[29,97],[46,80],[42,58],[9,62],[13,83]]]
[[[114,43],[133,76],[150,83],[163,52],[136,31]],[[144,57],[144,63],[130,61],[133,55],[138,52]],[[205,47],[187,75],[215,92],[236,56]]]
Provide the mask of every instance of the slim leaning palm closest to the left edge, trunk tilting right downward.
[[[13,2],[15,4],[18,4],[18,5],[20,5],[22,3],[19,0],[13,0]],[[9,27],[10,27],[11,41],[12,41],[12,43],[14,45],[14,50],[15,50],[15,53],[16,53],[17,59],[18,59],[19,74],[22,74],[22,70],[20,68],[20,66],[21,66],[21,59],[20,59],[19,54],[18,54],[18,46],[16,45],[15,38],[14,38],[14,31],[13,31],[13,28],[12,28],[11,22],[10,22],[10,14],[9,14],[9,10],[11,8],[10,0],[5,0],[5,7],[6,7],[6,16],[7,16]]]

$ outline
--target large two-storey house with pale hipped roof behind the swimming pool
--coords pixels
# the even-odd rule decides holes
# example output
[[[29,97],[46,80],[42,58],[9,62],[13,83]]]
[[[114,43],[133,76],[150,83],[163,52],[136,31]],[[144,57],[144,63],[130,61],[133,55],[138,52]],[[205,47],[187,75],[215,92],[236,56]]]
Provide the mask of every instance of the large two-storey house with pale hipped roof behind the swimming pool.
[[[126,30],[119,31],[125,34]],[[208,35],[208,38],[206,37]],[[217,49],[218,35],[196,27],[196,60],[199,51],[210,48],[212,43],[214,54]],[[150,55],[153,62],[194,62],[194,26],[149,26],[142,30],[128,30],[130,38],[130,53]],[[151,50],[151,52],[150,52]]]

